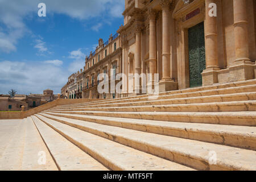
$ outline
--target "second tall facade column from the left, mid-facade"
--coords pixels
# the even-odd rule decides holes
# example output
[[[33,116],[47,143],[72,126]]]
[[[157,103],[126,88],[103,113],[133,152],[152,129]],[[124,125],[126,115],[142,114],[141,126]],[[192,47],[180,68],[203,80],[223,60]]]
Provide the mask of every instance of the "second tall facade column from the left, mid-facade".
[[[150,36],[149,36],[149,67],[152,80],[148,80],[148,85],[154,85],[154,74],[156,71],[156,26],[155,26],[155,11],[149,10],[150,18]]]

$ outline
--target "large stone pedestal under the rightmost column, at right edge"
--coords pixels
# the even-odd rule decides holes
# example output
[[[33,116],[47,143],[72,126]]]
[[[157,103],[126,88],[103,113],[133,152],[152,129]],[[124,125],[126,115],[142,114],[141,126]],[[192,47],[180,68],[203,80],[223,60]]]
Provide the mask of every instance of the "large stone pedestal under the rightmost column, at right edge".
[[[255,64],[251,61],[240,61],[229,66],[230,82],[245,81],[255,78]]]

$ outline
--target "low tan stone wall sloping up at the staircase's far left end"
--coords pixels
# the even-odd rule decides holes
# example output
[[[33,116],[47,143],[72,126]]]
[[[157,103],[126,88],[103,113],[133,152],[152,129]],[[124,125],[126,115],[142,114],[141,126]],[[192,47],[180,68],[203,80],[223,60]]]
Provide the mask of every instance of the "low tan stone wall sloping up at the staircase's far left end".
[[[58,105],[80,104],[80,103],[100,101],[100,100],[102,99],[89,99],[89,98],[76,99],[76,100],[59,99],[52,102],[48,102],[47,104],[35,107],[34,109],[30,109],[24,112],[0,112],[0,119],[23,119],[23,118],[29,117],[30,115],[40,113],[41,111],[50,109]]]

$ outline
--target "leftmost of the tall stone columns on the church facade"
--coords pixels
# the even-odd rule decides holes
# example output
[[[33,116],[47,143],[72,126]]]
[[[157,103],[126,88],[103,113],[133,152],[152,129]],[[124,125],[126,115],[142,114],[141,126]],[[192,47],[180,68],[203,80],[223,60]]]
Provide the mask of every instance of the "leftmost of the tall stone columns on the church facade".
[[[141,27],[137,27],[136,30],[136,50],[135,50],[135,59],[134,59],[134,68],[135,68],[135,75],[134,75],[134,91],[135,94],[141,93]]]

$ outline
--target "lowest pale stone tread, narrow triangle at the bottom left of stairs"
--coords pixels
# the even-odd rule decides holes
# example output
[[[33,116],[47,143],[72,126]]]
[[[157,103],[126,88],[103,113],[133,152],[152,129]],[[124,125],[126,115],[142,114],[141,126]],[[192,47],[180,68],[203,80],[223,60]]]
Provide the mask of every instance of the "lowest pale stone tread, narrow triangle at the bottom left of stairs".
[[[58,168],[61,171],[106,171],[97,160],[82,151],[79,147],[69,142],[51,127],[32,116],[44,142],[46,142]]]

